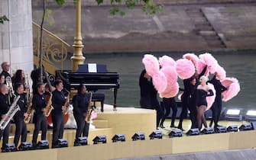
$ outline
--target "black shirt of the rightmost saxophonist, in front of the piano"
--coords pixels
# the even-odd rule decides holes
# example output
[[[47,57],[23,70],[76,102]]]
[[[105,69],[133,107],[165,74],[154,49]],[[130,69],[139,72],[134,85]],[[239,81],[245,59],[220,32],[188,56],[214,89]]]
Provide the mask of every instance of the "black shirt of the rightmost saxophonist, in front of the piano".
[[[73,97],[73,112],[74,114],[83,115],[87,112],[89,104],[89,95],[88,94],[76,94]]]

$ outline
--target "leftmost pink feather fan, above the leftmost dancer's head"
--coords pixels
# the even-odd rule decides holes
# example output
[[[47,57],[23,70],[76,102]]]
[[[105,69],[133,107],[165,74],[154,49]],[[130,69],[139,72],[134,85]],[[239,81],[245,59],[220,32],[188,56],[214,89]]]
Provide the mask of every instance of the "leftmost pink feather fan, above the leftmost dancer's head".
[[[142,59],[142,62],[144,63],[145,69],[147,71],[147,74],[151,77],[159,72],[159,62],[157,58],[151,54],[145,54],[144,58]]]

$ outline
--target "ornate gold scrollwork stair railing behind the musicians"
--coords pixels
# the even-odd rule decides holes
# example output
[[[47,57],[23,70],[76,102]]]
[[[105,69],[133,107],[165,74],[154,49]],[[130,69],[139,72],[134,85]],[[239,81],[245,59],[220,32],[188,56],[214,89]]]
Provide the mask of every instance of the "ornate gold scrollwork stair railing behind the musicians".
[[[34,65],[39,66],[40,25],[33,24]],[[43,65],[47,72],[55,75],[56,70],[63,70],[63,62],[68,56],[70,45],[60,37],[43,28]]]

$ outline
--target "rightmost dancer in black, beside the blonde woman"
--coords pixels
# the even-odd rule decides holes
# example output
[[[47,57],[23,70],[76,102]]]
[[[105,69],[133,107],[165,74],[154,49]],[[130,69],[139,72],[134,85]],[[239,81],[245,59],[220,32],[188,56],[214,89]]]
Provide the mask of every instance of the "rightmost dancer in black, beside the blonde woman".
[[[211,80],[209,80],[210,83],[212,83],[212,85],[215,88],[216,91],[216,97],[215,97],[215,101],[212,104],[211,110],[212,110],[212,120],[209,124],[209,126],[212,126],[212,121],[214,121],[214,128],[216,129],[219,122],[219,117],[220,114],[222,112],[222,92],[226,91],[227,88],[225,88],[222,83],[219,81],[218,78],[218,73],[215,72],[215,75],[212,77]]]

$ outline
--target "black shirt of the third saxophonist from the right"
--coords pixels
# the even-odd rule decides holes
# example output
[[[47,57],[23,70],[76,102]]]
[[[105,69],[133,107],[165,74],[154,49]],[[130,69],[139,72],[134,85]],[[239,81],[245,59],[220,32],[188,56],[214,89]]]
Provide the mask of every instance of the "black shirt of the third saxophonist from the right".
[[[35,114],[43,114],[42,109],[47,106],[47,101],[44,94],[34,94],[32,99],[32,107],[35,110]]]

